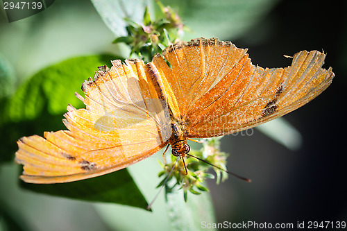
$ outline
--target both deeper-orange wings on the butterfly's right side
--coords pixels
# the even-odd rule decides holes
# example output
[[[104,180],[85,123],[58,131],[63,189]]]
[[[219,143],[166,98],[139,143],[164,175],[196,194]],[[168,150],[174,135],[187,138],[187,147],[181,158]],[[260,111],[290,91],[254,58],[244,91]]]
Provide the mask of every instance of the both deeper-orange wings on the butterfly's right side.
[[[246,49],[230,42],[178,42],[153,63],[169,80],[188,137],[215,137],[245,130],[287,114],[311,101],[334,77],[321,68],[325,54],[296,53],[291,66],[264,69]]]

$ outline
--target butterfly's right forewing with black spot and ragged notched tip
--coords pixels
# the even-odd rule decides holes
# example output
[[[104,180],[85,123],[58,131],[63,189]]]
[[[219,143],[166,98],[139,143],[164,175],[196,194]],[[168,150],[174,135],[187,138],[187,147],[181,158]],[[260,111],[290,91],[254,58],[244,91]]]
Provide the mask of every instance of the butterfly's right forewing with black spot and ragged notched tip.
[[[314,53],[318,52],[314,51]],[[294,57],[298,55],[305,56],[306,52],[298,53]],[[322,53],[318,55],[324,56]],[[326,71],[321,69],[321,65],[323,62],[314,62],[314,67],[310,69],[302,65],[301,69],[305,71],[301,69],[293,71],[292,66],[287,69],[262,71],[259,67],[253,66],[251,73],[247,73],[248,68],[243,68],[228,91],[221,93],[225,96],[220,96],[202,110],[203,117],[199,117],[198,113],[189,115],[192,121],[193,119],[196,121],[190,123],[192,127],[187,128],[189,136],[226,135],[252,128],[296,110],[318,96],[331,83],[334,76],[331,69]],[[244,71],[246,75],[242,75]],[[296,77],[293,78],[293,75]],[[264,86],[263,89],[262,86]],[[259,91],[259,89],[262,90]]]

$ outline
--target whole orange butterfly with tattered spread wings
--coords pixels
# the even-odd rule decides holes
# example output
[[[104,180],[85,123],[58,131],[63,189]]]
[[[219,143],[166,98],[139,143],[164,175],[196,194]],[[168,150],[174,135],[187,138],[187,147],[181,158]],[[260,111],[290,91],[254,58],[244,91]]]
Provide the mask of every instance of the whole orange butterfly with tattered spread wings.
[[[19,139],[22,180],[59,183],[124,169],[168,144],[185,157],[187,139],[227,135],[287,114],[326,89],[325,54],[296,53],[286,68],[254,66],[246,49],[198,38],[177,42],[144,64],[99,67],[82,85],[86,109],[71,105],[68,130]],[[169,62],[169,65],[168,65]],[[170,67],[171,66],[171,67]]]

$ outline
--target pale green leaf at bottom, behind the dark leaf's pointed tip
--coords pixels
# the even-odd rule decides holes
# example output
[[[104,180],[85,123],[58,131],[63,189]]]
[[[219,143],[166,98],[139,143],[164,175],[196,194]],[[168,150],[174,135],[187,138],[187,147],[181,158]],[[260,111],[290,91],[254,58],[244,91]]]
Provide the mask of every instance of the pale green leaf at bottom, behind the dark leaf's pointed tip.
[[[160,190],[155,186],[160,181],[157,175],[162,167],[157,160],[162,161],[162,151],[128,167],[128,171],[147,201],[153,200]],[[170,183],[169,187],[175,182],[173,180]],[[184,190],[178,190],[178,188],[179,186],[174,187],[167,196],[164,190],[160,191],[153,203],[153,212],[111,205],[96,205],[96,211],[101,214],[112,230],[138,230],[138,224],[141,230],[201,230],[202,221],[216,222],[209,193],[203,192],[200,195],[188,193],[188,200],[185,203]]]

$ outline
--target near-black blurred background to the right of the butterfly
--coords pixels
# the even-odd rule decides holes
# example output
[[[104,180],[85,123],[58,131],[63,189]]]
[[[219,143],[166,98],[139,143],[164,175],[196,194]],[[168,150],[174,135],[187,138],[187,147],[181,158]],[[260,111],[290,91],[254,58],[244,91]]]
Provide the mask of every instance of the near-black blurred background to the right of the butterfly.
[[[303,136],[298,151],[258,130],[251,137],[222,139],[222,151],[230,152],[228,169],[253,182],[230,177],[216,187],[210,183],[219,222],[347,220],[346,10],[346,1],[280,1],[234,41],[248,47],[253,64],[261,67],[286,67],[291,59],[284,54],[323,50],[323,67],[332,67],[335,79],[312,102],[285,116]],[[254,42],[254,37],[261,40]]]

